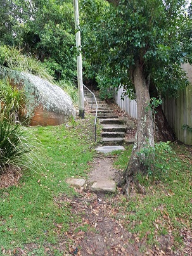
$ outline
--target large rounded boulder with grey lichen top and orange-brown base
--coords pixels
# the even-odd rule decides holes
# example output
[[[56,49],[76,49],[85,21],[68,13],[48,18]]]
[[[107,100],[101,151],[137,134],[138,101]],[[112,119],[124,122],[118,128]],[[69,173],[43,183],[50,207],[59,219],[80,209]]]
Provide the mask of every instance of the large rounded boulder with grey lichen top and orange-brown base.
[[[59,125],[75,117],[75,108],[70,96],[63,89],[35,75],[11,70],[8,72],[11,85],[23,89],[27,98],[25,118],[30,125]]]

